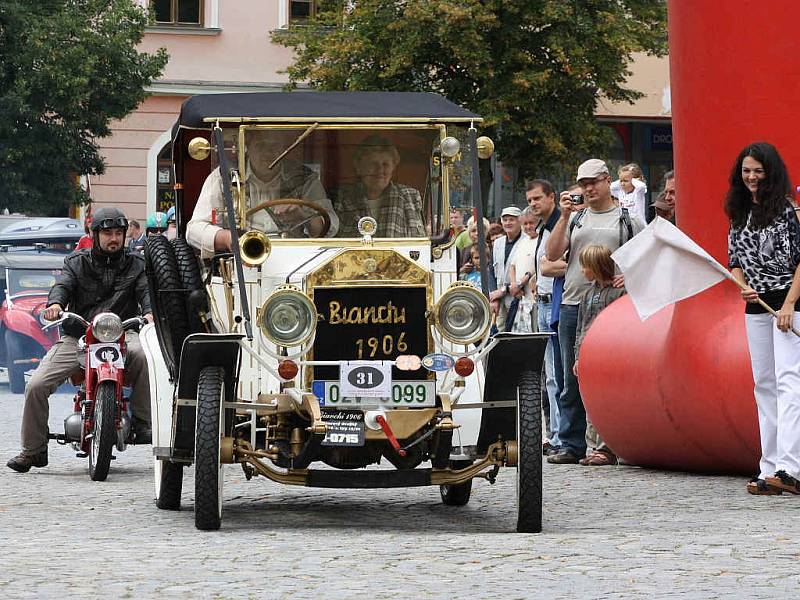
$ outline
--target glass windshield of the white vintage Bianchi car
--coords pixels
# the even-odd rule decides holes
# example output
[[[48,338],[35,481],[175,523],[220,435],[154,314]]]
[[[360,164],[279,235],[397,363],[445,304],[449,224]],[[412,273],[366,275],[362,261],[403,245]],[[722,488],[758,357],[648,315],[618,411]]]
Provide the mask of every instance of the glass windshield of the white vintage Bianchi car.
[[[464,186],[442,177],[461,153],[442,160],[440,125],[244,125],[226,133],[243,229],[355,238],[371,217],[376,238],[437,237],[450,226],[446,195],[463,201]]]

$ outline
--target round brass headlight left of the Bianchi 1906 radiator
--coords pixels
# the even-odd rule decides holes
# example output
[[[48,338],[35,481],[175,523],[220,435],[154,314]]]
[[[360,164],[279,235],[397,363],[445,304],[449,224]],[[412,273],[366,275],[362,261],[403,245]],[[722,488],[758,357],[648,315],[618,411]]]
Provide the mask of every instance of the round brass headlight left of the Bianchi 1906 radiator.
[[[278,346],[297,346],[314,334],[317,309],[303,292],[294,286],[277,288],[259,312],[261,331]]]

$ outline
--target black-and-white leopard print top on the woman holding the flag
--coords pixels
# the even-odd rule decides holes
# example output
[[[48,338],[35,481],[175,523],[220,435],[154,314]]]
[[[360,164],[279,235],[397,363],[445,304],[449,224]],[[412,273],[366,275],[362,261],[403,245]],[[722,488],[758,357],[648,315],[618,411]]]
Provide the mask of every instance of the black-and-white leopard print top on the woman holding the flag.
[[[728,233],[728,266],[740,268],[747,283],[759,294],[787,289],[800,265],[800,222],[795,206],[786,208],[764,229],[731,227]]]

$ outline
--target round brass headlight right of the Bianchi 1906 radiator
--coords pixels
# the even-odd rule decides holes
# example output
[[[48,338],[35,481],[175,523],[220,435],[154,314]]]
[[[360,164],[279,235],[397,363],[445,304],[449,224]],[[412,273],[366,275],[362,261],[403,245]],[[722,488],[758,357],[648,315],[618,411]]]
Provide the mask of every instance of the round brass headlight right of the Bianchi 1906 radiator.
[[[456,344],[483,339],[491,324],[489,300],[464,281],[453,283],[439,298],[433,312],[442,337]]]

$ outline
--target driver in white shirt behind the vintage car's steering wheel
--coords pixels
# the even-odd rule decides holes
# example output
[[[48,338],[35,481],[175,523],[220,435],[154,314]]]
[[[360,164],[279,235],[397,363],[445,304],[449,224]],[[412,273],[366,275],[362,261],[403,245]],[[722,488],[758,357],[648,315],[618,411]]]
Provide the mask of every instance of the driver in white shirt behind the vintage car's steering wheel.
[[[289,152],[270,169],[270,164],[297,139],[297,131],[269,130],[249,133],[247,136],[247,172],[242,175],[243,188],[247,190],[248,207],[256,207],[268,200],[310,200],[319,205],[330,219],[327,237],[336,235],[339,219],[333,211],[319,176],[292,158]],[[208,258],[215,252],[231,251],[231,232],[215,222],[215,214],[225,207],[222,194],[222,175],[219,168],[212,171],[203,183],[192,218],[186,228],[186,240]],[[300,235],[318,237],[323,233],[323,219],[313,209],[297,203],[276,204],[254,212],[246,225],[265,233],[298,231]]]

